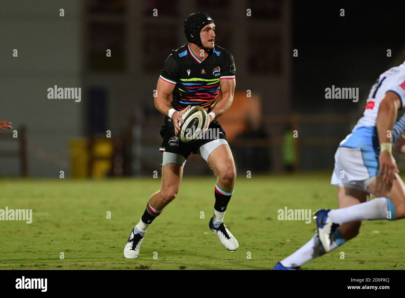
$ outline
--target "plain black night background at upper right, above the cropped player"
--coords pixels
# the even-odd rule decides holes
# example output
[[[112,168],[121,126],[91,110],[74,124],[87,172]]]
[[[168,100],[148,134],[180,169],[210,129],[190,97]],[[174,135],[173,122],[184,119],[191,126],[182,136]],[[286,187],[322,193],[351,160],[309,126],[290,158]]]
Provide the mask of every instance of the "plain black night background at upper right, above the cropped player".
[[[350,101],[317,100],[331,85],[361,87],[364,104],[379,74],[397,65],[395,56],[404,60],[404,8],[403,1],[293,1],[292,47],[299,49],[292,60],[293,111],[356,111]]]

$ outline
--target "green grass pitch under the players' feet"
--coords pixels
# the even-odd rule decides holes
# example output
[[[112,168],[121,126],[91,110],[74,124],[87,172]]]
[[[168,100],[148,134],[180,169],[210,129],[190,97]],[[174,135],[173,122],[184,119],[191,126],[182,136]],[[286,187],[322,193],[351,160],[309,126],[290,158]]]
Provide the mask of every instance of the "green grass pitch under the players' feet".
[[[225,216],[239,241],[234,252],[208,228],[215,177],[184,177],[177,198],[148,228],[137,259],[125,259],[123,248],[159,179],[2,179],[0,209],[33,209],[33,221],[0,221],[0,269],[269,269],[315,230],[313,221],[277,220],[278,209],[336,208],[329,176],[239,175]],[[302,268],[405,269],[403,225],[365,222],[355,239]]]

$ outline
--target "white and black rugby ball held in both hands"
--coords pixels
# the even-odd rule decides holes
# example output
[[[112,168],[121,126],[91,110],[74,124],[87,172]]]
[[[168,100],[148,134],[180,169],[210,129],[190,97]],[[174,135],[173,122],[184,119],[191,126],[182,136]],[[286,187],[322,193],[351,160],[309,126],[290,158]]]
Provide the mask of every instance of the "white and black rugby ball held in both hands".
[[[207,126],[207,112],[201,106],[193,106],[181,116],[184,123],[179,121],[179,139],[183,143],[197,140],[203,135]]]

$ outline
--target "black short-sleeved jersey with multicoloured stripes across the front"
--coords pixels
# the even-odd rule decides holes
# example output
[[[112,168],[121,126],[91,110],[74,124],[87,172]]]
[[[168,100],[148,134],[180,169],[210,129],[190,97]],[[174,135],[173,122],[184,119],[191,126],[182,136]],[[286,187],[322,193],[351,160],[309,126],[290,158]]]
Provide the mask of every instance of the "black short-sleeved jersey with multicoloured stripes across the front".
[[[215,46],[205,60],[199,58],[199,53],[193,53],[186,43],[173,50],[164,62],[159,78],[176,85],[171,102],[176,111],[191,105],[207,108],[209,113],[217,104],[220,80],[235,78],[235,63],[226,49]],[[169,120],[166,117],[165,123],[171,123]]]

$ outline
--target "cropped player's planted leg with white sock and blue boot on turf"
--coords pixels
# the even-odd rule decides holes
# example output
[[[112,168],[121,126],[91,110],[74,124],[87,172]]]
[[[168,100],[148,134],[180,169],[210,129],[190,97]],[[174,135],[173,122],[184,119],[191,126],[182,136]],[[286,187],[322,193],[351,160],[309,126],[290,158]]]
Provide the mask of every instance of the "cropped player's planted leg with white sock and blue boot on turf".
[[[339,202],[339,208],[360,204],[366,202],[368,199],[369,195],[361,190],[345,186],[337,187],[337,200]],[[360,226],[361,221],[352,221],[340,226],[330,238],[331,243],[329,251],[356,237],[359,233]],[[281,262],[278,262],[273,269],[293,270],[299,266],[302,266],[306,262],[323,255],[324,253],[325,251],[319,241],[318,234],[315,234],[311,240],[309,240],[300,249]]]

